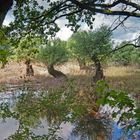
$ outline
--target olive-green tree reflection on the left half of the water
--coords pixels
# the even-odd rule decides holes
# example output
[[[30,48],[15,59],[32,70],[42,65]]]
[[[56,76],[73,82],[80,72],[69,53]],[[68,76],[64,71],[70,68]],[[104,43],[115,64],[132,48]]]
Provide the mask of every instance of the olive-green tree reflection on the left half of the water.
[[[45,97],[43,93],[27,91],[26,94],[20,95],[14,112],[11,114],[13,118],[19,121],[19,127],[16,133],[9,137],[9,140],[46,140],[48,138],[55,140],[57,137],[55,132],[61,124],[61,117],[57,114],[57,108],[54,107],[53,99],[49,96]],[[41,127],[43,125],[42,119],[47,120],[48,130],[43,135],[37,135],[32,131],[32,128]]]

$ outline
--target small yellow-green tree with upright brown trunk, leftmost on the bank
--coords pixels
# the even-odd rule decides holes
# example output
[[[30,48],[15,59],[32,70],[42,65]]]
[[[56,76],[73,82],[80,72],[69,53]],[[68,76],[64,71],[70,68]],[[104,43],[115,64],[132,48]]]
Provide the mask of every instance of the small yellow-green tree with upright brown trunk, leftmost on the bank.
[[[31,60],[35,58],[38,52],[38,45],[40,45],[40,38],[32,36],[23,37],[18,43],[18,47],[15,49],[15,56],[18,61],[24,61],[26,64],[26,76],[33,76],[34,70],[31,64]]]

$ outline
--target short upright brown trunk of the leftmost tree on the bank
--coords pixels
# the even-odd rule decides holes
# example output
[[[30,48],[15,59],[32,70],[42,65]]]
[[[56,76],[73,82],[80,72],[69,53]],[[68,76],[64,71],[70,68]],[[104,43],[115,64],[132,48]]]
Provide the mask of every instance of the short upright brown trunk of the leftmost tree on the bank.
[[[34,76],[34,70],[30,60],[25,61],[26,64],[26,76]]]

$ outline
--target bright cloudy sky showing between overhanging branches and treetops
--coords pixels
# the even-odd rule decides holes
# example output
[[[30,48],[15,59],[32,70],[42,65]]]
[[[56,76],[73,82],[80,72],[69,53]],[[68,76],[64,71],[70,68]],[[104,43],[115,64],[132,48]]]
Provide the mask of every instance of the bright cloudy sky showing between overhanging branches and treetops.
[[[94,29],[100,27],[101,24],[106,24],[110,27],[116,18],[117,16],[113,17],[97,14],[95,16],[95,21],[93,22]],[[8,25],[13,19],[14,17],[10,11],[4,20],[4,24]],[[67,40],[72,34],[72,31],[69,28],[65,27],[65,22],[66,21],[64,19],[57,21],[61,28],[61,30],[57,33],[57,37],[60,37],[62,40]],[[113,32],[113,40],[116,42],[121,42],[124,40],[133,40],[134,38],[137,38],[140,33],[139,22],[140,19],[138,18],[129,18],[127,21],[124,22],[125,26],[120,26],[117,30]],[[116,26],[116,24],[114,24],[114,26]],[[82,25],[82,29],[89,30],[89,28],[85,24]]]

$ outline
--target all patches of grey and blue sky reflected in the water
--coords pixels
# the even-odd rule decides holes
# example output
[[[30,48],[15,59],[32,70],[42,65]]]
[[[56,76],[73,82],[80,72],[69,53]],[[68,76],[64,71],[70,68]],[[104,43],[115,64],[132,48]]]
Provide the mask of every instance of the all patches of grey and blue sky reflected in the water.
[[[21,95],[21,91],[18,91],[16,94],[5,94],[2,93],[0,96],[0,103],[8,102],[13,106],[16,103],[16,98]],[[30,130],[34,132],[36,135],[43,135],[48,133],[48,122],[46,119],[40,119],[41,124],[37,128],[31,128]],[[14,132],[18,128],[18,121],[12,118],[6,119],[3,122],[0,119],[0,140],[4,140],[8,136],[14,134]],[[56,133],[58,136],[63,138],[64,140],[81,140],[80,135],[75,136],[72,135],[72,130],[74,129],[74,125],[71,123],[62,123],[61,129],[58,130]],[[92,128],[91,128],[92,129]],[[94,133],[94,132],[93,132]],[[125,138],[124,138],[125,137]],[[124,138],[124,139],[123,139]],[[137,131],[135,134],[132,135],[131,132],[128,133],[126,137],[121,128],[114,123],[113,130],[112,130],[112,139],[111,140],[140,140],[140,131]],[[86,140],[86,139],[85,139]],[[88,139],[87,139],[88,140]],[[94,140],[94,139],[93,139]]]

